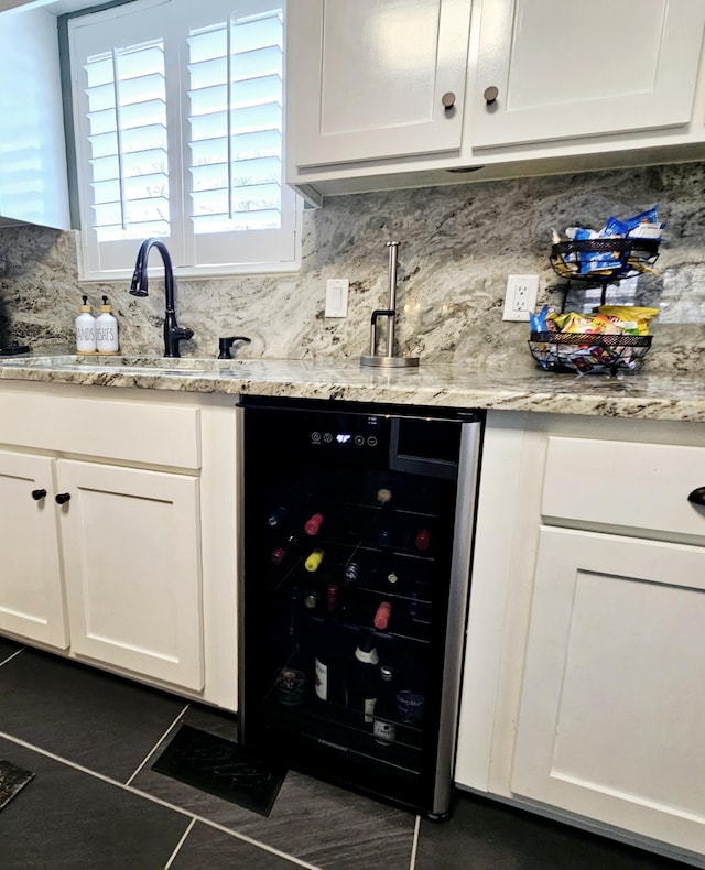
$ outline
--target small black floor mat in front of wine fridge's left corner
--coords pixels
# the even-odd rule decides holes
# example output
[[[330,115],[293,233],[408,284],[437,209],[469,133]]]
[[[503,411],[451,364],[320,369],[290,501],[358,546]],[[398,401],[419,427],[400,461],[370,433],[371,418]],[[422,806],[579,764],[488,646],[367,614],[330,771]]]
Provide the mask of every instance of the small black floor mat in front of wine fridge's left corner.
[[[283,765],[188,725],[182,725],[152,770],[261,816],[269,816],[286,775]]]

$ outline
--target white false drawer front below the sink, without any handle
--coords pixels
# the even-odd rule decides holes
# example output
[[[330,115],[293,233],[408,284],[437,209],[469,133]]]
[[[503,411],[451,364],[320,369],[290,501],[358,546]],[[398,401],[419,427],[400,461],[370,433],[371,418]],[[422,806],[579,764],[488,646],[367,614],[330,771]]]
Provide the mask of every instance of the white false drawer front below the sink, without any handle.
[[[126,463],[200,467],[197,407],[30,393],[0,394],[0,443]]]

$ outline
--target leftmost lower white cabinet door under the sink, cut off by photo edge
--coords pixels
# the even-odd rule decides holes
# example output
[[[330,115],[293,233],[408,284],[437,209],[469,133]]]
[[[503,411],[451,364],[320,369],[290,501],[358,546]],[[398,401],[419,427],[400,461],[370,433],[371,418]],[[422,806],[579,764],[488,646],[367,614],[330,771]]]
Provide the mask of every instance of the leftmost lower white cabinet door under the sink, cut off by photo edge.
[[[65,650],[52,459],[0,450],[0,631]]]

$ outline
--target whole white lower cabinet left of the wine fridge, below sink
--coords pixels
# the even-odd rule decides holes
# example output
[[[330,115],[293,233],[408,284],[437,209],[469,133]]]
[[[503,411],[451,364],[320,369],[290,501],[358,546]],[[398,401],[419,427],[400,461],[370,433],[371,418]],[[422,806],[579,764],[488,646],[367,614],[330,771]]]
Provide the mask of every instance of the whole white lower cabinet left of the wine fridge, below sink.
[[[3,385],[0,633],[235,710],[235,426],[228,396]]]

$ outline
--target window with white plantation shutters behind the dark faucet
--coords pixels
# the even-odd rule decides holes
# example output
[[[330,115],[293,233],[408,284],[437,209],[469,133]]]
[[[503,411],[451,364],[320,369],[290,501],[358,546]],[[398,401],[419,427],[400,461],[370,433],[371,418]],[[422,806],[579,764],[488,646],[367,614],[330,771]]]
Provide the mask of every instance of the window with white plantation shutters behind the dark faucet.
[[[181,274],[299,264],[282,181],[282,0],[138,0],[68,22],[83,275],[142,239]]]

